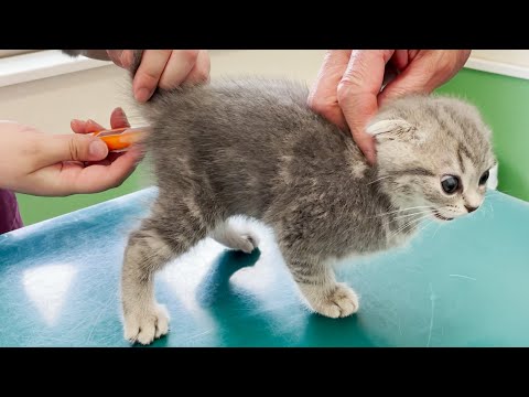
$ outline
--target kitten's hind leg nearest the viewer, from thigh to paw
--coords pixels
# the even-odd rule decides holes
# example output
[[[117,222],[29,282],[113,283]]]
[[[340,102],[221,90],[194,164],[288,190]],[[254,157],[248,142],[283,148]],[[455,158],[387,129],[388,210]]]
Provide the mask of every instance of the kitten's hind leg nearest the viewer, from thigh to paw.
[[[186,212],[153,216],[129,237],[121,275],[125,337],[149,344],[169,331],[165,308],[154,299],[154,273],[207,235],[205,224]]]

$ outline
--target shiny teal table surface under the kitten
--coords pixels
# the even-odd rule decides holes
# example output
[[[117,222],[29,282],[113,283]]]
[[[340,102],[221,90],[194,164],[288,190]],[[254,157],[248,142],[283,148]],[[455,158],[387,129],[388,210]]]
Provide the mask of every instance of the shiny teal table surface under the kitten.
[[[0,346],[130,346],[119,278],[143,190],[0,236]],[[339,264],[347,319],[310,313],[272,235],[212,239],[156,275],[171,331],[152,346],[529,346],[529,205],[490,192],[474,214],[424,225],[407,247]]]

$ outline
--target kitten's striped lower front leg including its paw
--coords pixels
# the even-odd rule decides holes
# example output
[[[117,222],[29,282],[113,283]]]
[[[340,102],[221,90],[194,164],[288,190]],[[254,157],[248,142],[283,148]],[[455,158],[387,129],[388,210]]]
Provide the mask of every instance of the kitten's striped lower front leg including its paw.
[[[356,292],[346,285],[336,282],[330,264],[295,257],[284,251],[283,256],[301,293],[314,311],[333,319],[358,311]]]

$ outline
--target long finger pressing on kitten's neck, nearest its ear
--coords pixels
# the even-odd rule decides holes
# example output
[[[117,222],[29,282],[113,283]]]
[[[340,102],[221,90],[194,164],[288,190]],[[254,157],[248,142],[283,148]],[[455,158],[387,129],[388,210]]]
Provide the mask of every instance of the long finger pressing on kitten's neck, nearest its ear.
[[[376,161],[375,140],[366,132],[366,126],[378,111],[377,96],[392,54],[392,50],[354,51],[338,84],[338,104],[355,142],[371,164]]]

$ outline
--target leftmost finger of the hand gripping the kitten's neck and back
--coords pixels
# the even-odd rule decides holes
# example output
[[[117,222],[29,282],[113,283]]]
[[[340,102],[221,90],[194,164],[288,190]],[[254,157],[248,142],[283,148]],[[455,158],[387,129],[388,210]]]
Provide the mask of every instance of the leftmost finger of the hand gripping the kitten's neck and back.
[[[347,130],[347,124],[339,108],[337,86],[347,69],[350,54],[352,50],[327,51],[309,95],[309,106],[343,130]]]

